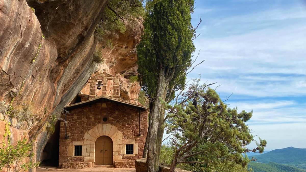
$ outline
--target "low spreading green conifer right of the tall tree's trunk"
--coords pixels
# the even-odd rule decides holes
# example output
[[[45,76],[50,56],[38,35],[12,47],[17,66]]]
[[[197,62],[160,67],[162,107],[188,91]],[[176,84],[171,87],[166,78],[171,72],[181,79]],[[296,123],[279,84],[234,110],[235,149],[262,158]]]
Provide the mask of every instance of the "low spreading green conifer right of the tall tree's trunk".
[[[178,163],[203,163],[205,167],[233,161],[245,167],[249,159],[242,153],[263,152],[267,144],[259,138],[257,148],[246,148],[254,138],[245,124],[251,117],[252,111],[238,113],[237,107],[227,107],[214,89],[195,79],[167,116],[166,131],[173,135]]]

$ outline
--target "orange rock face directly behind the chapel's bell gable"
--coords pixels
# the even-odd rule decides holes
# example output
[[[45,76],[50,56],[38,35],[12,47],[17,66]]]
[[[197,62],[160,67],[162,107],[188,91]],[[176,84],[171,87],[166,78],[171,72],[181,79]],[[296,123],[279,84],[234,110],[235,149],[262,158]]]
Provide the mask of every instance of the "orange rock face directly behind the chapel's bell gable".
[[[125,33],[110,33],[104,39],[110,40],[111,46],[104,45],[102,42],[97,43],[97,50],[103,55],[103,63],[99,64],[97,71],[91,77],[99,75],[104,70],[119,78],[121,100],[138,104],[138,94],[140,85],[131,77],[137,76],[137,55],[136,45],[140,41],[143,33],[141,19],[125,20]],[[89,84],[82,89],[82,94],[88,94]]]

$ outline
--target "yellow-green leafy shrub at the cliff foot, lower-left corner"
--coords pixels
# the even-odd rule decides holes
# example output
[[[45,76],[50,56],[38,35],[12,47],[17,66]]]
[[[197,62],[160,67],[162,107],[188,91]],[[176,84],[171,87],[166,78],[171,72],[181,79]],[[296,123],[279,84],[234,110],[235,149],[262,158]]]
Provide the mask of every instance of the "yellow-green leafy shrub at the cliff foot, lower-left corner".
[[[26,138],[18,140],[17,143],[11,143],[9,132],[9,124],[5,125],[5,133],[2,138],[2,148],[0,149],[0,171],[28,171],[29,169],[39,165],[39,162],[26,162],[33,157],[31,153],[32,142],[28,142]],[[5,141],[7,137],[7,144]],[[28,158],[28,159],[27,159]]]

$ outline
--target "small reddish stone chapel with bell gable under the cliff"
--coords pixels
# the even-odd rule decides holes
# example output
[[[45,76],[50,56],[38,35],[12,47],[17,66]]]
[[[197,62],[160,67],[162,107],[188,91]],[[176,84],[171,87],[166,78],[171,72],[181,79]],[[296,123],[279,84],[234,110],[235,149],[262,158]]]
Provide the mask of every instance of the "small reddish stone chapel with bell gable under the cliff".
[[[91,76],[89,95],[64,108],[59,124],[60,168],[134,167],[142,158],[148,110],[120,99],[119,79]]]

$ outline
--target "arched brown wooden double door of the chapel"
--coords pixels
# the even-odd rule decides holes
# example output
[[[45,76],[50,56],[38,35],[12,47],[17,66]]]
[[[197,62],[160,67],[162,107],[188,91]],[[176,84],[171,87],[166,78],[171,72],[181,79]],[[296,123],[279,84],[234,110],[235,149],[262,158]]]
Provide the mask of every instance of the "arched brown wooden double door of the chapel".
[[[95,142],[95,165],[113,165],[113,140],[109,136]]]

